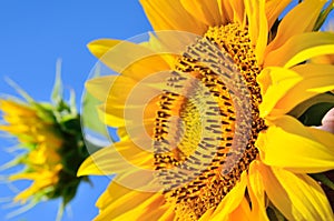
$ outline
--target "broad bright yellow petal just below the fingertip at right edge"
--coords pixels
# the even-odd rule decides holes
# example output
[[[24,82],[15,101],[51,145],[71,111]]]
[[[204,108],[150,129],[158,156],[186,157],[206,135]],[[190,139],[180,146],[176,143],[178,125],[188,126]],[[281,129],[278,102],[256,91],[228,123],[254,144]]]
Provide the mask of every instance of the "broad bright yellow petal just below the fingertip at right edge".
[[[330,139],[326,143],[317,139]],[[293,172],[316,173],[334,169],[334,135],[318,132],[313,135],[296,119],[285,115],[269,123],[259,133],[256,145],[264,163]],[[328,147],[326,144],[330,144]]]

